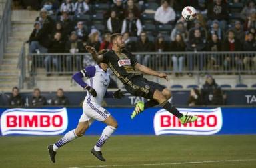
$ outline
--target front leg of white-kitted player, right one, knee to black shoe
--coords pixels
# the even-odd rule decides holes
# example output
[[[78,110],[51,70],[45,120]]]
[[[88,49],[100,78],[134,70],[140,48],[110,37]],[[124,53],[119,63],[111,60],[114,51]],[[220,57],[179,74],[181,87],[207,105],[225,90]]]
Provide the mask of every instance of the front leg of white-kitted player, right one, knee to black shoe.
[[[103,123],[107,124],[105,129],[103,129],[101,133],[101,137],[99,137],[99,140],[97,141],[96,145],[91,149],[91,153],[97,157],[97,159],[101,161],[106,161],[102,155],[101,147],[105,144],[105,142],[109,139],[109,137],[112,135],[113,132],[117,129],[117,121],[109,115],[107,119],[103,121]]]

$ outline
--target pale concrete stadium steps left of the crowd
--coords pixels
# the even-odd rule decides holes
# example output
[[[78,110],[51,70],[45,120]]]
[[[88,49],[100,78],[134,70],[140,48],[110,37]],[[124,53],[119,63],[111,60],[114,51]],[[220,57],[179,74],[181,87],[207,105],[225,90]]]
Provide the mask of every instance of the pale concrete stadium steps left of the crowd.
[[[19,53],[24,41],[29,39],[33,30],[35,18],[39,15],[38,11],[13,10],[11,13],[11,32],[3,62],[0,64],[0,91],[11,91],[11,88],[19,83]]]

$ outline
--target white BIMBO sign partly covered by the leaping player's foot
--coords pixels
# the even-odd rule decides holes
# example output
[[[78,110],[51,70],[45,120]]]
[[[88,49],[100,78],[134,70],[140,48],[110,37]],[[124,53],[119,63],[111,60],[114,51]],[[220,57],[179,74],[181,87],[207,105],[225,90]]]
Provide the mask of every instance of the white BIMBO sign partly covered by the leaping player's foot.
[[[197,115],[199,119],[193,123],[181,124],[179,119],[161,109],[155,113],[155,135],[185,134],[185,135],[213,135],[221,130],[221,108],[216,109],[185,109],[179,108],[183,114]]]

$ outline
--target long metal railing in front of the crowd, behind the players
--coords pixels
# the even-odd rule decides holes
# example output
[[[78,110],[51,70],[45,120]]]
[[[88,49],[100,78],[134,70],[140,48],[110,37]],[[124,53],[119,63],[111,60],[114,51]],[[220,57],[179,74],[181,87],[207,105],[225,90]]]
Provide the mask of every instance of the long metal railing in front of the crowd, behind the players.
[[[256,52],[133,53],[139,63],[164,73],[256,74]],[[65,75],[95,64],[89,53],[32,54],[28,64],[32,78],[37,74]]]

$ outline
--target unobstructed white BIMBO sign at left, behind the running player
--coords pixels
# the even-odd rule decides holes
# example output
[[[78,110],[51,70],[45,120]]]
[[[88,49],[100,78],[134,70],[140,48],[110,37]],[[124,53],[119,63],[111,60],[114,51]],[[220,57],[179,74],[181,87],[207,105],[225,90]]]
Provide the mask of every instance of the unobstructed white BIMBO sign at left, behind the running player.
[[[8,109],[1,115],[2,135],[59,135],[67,129],[67,109]]]

